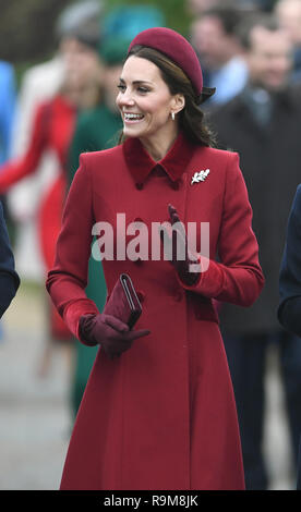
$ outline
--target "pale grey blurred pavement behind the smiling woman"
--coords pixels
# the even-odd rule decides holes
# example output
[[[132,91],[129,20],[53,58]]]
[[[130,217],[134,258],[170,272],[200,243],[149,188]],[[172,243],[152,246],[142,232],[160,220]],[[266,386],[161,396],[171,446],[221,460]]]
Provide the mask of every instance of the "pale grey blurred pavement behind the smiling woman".
[[[47,377],[37,377],[45,346],[44,289],[22,284],[7,312],[0,343],[0,489],[58,489],[72,427],[69,367],[56,350]],[[290,453],[277,359],[269,356],[264,450],[272,489],[291,489]]]

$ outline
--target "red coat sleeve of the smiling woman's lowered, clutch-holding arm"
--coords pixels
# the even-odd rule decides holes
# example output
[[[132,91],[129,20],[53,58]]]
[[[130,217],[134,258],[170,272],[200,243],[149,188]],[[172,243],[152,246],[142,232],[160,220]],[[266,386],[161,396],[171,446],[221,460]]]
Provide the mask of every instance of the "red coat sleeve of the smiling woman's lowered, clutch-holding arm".
[[[81,316],[99,313],[85,293],[94,214],[91,175],[84,157],[81,155],[80,168],[67,197],[55,266],[46,281],[55,306],[76,338],[80,338]]]

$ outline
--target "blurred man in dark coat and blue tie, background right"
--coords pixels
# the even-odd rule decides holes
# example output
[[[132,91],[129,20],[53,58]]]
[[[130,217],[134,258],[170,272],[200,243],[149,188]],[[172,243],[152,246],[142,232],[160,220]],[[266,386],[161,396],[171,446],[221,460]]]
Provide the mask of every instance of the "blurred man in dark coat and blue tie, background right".
[[[241,26],[250,78],[244,90],[210,112],[218,147],[240,154],[265,288],[248,309],[224,304],[221,330],[240,419],[246,488],[265,489],[262,454],[265,358],[279,348],[294,460],[301,423],[301,344],[277,321],[278,276],[290,205],[300,181],[300,89],[289,84],[291,44],[266,15]]]

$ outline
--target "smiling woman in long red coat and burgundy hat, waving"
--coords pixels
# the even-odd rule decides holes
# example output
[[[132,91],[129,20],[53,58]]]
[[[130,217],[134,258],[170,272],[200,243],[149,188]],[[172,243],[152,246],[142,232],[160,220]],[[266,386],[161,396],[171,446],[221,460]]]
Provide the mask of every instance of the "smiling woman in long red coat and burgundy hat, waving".
[[[134,38],[119,89],[125,142],[81,156],[47,280],[70,330],[100,346],[61,489],[243,489],[236,404],[213,306],[214,298],[249,306],[264,282],[238,155],[210,147],[198,108],[206,95],[200,63],[176,32],[150,28]],[[184,259],[169,261],[162,252],[158,258],[153,228],[167,220],[194,222],[197,247],[206,222],[207,254],[186,236]],[[84,291],[93,234],[104,225],[113,235],[103,261],[108,293],[127,272],[142,301],[132,330],[106,308],[99,314]],[[143,227],[137,239],[133,225]]]

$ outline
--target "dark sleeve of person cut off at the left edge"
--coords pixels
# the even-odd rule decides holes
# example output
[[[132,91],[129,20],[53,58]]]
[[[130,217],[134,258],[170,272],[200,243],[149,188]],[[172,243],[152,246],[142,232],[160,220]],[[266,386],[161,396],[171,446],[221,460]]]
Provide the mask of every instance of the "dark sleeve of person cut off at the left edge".
[[[0,318],[15,296],[19,285],[20,278],[14,268],[14,257],[0,203]]]

